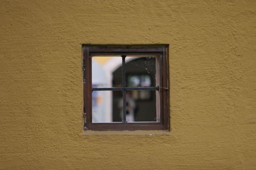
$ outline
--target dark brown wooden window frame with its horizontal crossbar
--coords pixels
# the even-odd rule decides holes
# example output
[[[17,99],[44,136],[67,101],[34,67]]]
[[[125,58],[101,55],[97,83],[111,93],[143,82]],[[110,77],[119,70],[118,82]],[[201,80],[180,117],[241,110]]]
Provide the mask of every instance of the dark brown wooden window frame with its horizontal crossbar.
[[[111,122],[92,123],[92,91],[93,90],[138,90],[129,87],[93,89],[92,88],[92,57],[93,56],[125,56],[154,55],[157,57],[156,85],[160,120],[159,122]],[[84,130],[92,131],[135,131],[135,130],[170,130],[169,118],[169,76],[168,76],[168,45],[83,45],[83,105]],[[125,81],[125,80],[123,80]],[[124,82],[123,82],[124,83]],[[142,90],[148,90],[141,87]],[[154,89],[153,89],[154,88]],[[124,92],[125,91],[125,92]],[[124,120],[124,119],[123,119]]]

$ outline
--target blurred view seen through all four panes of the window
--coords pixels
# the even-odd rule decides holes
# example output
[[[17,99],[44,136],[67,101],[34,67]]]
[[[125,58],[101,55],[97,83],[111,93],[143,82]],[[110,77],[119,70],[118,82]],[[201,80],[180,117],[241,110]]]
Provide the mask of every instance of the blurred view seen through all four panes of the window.
[[[127,87],[156,86],[155,57],[126,57]],[[92,57],[93,87],[122,87],[122,57]],[[128,122],[156,122],[156,91],[126,93]],[[92,122],[122,122],[122,91],[92,92]]]

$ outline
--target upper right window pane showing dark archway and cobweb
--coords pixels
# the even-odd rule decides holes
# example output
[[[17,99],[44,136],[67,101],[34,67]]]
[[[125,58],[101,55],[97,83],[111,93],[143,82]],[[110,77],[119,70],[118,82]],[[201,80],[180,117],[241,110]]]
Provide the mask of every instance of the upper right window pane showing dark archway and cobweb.
[[[126,57],[127,87],[156,86],[155,57]]]

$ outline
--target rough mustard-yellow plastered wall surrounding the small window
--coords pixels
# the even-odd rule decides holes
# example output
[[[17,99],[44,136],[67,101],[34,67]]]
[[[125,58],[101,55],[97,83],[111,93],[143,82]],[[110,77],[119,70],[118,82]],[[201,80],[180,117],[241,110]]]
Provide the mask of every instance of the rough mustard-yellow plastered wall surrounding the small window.
[[[256,169],[256,1],[0,1],[0,169]],[[81,43],[170,44],[167,134],[83,134]]]

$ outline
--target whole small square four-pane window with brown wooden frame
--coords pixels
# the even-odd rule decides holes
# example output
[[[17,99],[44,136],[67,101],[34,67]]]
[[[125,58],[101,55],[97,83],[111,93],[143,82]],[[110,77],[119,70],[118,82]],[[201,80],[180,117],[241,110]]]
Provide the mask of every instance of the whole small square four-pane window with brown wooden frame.
[[[83,45],[84,130],[168,130],[168,45]]]

